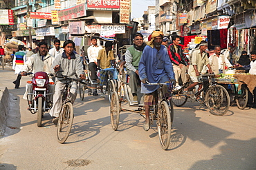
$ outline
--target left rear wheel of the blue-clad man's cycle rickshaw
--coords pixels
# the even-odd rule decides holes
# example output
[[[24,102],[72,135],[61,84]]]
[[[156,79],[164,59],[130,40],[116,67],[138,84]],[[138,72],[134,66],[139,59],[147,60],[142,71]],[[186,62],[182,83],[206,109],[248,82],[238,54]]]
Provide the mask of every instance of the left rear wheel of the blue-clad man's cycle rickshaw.
[[[110,118],[111,118],[111,125],[114,131],[118,129],[119,114],[120,114],[120,103],[119,103],[118,94],[116,92],[113,92],[111,102],[110,102]]]

